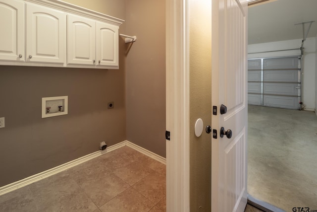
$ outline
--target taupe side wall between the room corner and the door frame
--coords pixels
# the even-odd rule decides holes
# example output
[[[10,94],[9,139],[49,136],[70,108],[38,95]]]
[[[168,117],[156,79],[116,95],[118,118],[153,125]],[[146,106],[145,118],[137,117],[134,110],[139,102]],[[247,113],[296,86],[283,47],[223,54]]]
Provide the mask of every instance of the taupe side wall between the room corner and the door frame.
[[[165,0],[126,0],[125,24],[127,140],[165,157]]]

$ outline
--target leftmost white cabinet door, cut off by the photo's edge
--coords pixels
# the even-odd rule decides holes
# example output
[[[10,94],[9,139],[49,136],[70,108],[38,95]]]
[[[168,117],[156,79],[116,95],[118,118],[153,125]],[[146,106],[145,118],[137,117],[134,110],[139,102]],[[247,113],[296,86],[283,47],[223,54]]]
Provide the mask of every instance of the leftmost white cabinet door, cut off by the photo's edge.
[[[24,2],[0,0],[0,60],[24,61]]]

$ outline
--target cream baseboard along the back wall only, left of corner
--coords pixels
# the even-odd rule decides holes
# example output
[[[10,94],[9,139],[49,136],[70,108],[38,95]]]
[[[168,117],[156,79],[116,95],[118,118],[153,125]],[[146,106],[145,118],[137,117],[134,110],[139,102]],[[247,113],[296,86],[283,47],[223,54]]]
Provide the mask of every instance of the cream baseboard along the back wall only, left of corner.
[[[19,188],[22,188],[24,186],[30,185],[32,183],[38,182],[40,180],[43,180],[45,178],[48,178],[54,174],[65,171],[69,168],[72,168],[72,167],[77,166],[81,163],[87,162],[91,159],[94,159],[100,155],[103,155],[107,152],[113,151],[113,150],[120,148],[122,146],[125,146],[125,145],[126,145],[126,141],[122,141],[120,143],[117,143],[117,144],[114,144],[112,146],[107,147],[106,150],[103,150],[103,151],[99,150],[99,151],[87,154],[87,155],[82,156],[80,158],[77,158],[75,160],[72,160],[72,161],[69,161],[67,163],[56,166],[54,168],[51,168],[49,170],[40,172],[38,174],[32,175],[32,176],[24,178],[22,180],[10,183],[10,184],[5,185],[5,186],[2,186],[2,187],[0,187],[0,196],[4,195],[6,193],[12,192],[14,190],[17,190]]]

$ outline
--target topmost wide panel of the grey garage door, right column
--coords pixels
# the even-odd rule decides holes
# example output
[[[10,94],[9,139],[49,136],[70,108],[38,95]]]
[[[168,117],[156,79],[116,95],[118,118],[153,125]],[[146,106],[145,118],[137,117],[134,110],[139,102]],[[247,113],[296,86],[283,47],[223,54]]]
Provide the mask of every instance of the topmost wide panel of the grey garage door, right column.
[[[298,69],[298,57],[264,59],[263,69]]]

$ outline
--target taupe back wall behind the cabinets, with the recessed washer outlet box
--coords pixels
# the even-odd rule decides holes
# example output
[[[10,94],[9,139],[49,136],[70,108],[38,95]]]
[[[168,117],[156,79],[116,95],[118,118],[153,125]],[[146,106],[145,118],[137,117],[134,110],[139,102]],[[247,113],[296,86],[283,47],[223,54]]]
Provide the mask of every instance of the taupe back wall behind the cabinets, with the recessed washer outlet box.
[[[124,0],[67,1],[125,19]],[[0,187],[126,140],[124,45],[119,70],[0,66]],[[42,119],[41,98],[63,95],[68,115]]]

